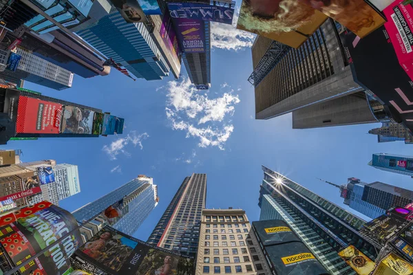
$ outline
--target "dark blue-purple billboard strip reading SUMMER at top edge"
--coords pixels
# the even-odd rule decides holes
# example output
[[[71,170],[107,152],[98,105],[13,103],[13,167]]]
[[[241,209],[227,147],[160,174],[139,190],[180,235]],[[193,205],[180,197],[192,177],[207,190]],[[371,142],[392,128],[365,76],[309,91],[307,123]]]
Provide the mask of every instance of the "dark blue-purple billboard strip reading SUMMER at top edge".
[[[226,4],[209,5],[207,3],[169,2],[169,14],[173,19],[186,18],[204,21],[214,21],[232,25],[235,2]]]

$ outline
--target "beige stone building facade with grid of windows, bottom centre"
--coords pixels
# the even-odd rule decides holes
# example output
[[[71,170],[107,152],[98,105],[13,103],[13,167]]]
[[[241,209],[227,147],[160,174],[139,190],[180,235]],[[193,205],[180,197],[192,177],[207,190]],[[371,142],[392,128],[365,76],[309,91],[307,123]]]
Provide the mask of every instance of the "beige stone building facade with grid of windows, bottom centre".
[[[195,275],[257,274],[246,243],[250,229],[242,209],[202,210]]]

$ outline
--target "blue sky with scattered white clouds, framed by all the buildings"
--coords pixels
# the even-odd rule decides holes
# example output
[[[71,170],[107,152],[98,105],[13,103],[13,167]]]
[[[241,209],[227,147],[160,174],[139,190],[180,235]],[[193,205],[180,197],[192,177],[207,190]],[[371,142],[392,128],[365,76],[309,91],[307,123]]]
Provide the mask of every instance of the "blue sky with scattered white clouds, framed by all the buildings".
[[[75,76],[73,87],[55,91],[26,83],[46,96],[78,102],[125,118],[123,135],[98,138],[43,138],[13,141],[1,148],[21,148],[23,162],[56,159],[76,164],[81,193],[61,201],[76,210],[139,174],[153,177],[160,202],[134,234],[147,240],[184,177],[207,174],[207,208],[243,208],[251,221],[260,217],[257,201],[268,166],[346,208],[337,184],[348,177],[383,181],[413,189],[413,179],[367,165],[372,153],[412,155],[403,142],[378,144],[367,134],[379,124],[293,130],[290,114],[255,120],[251,34],[213,25],[209,91],[195,91],[182,78],[147,82],[112,71],[109,76]],[[241,38],[242,37],[242,38]],[[177,81],[177,82],[176,82]],[[220,108],[216,108],[220,107]]]

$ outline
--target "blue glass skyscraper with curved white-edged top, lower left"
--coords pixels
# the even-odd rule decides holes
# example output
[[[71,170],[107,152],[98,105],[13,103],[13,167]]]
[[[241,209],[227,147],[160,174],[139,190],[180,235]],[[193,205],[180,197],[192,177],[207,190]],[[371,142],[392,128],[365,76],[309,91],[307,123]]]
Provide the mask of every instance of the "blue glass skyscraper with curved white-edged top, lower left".
[[[96,214],[103,212],[103,210],[121,200],[123,200],[125,214],[112,227],[125,234],[132,235],[138,230],[153,208],[158,205],[158,186],[153,184],[151,177],[139,175],[127,184],[96,199],[96,201],[87,203],[82,208],[75,210],[73,215],[79,223],[82,223],[92,219]],[[102,225],[103,219],[100,217],[87,225],[85,228],[89,228],[89,232],[85,228],[83,229],[83,234],[87,235],[85,239],[89,239]]]

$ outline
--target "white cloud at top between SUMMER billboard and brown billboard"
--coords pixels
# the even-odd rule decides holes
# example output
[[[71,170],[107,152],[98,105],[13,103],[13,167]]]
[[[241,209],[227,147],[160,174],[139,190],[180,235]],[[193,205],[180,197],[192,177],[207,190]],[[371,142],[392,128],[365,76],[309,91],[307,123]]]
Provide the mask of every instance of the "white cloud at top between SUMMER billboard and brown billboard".
[[[255,34],[237,29],[240,9],[235,9],[233,25],[211,22],[211,45],[224,50],[245,50],[254,43]]]

